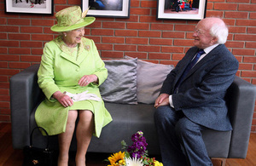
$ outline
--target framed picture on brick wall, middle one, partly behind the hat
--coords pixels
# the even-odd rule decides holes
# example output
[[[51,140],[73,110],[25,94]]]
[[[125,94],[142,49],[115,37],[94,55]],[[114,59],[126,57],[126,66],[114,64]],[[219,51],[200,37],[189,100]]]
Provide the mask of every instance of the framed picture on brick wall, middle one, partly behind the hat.
[[[82,0],[82,10],[95,17],[130,17],[130,0]]]

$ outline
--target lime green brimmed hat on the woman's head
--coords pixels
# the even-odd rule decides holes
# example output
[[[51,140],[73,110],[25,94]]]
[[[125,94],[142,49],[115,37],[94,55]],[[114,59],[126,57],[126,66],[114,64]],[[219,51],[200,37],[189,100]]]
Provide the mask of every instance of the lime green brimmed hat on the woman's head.
[[[71,31],[83,26],[89,26],[95,21],[95,17],[85,17],[89,9],[83,13],[79,6],[62,9],[55,14],[57,24],[51,26],[51,31]]]

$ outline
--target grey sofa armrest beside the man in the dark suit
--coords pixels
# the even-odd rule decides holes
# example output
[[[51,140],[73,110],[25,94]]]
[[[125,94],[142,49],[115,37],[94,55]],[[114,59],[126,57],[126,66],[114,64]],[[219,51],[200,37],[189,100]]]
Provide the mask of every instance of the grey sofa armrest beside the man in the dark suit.
[[[230,122],[233,127],[229,157],[245,158],[253,121],[256,87],[236,77],[227,91]]]

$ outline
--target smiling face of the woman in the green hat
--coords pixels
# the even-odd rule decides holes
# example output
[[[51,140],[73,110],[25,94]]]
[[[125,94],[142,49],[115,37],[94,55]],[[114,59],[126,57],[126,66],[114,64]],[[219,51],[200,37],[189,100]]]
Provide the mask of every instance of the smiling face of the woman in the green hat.
[[[67,43],[67,46],[75,46],[81,42],[81,38],[84,36],[84,27],[81,27],[76,30],[63,32],[64,42]]]

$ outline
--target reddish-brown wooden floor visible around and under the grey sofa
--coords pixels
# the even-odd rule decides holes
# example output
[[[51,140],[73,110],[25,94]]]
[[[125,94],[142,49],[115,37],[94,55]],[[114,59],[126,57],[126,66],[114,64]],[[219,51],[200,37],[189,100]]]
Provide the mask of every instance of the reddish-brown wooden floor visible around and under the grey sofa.
[[[105,166],[103,162],[110,154],[88,153],[86,156],[86,166]],[[73,154],[71,154],[70,166],[74,166]],[[12,146],[11,123],[0,123],[0,166],[22,165],[22,150],[15,150]],[[212,159],[213,166],[221,165],[218,159]],[[246,159],[227,159],[226,166],[256,166],[256,133],[250,136]]]

